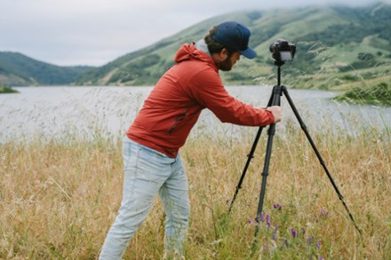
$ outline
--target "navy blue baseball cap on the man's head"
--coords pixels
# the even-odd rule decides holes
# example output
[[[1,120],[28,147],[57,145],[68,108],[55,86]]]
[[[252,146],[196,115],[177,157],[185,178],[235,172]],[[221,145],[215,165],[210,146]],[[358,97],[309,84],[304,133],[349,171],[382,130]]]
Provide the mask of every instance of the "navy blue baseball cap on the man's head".
[[[250,35],[250,30],[242,24],[235,21],[225,21],[217,26],[217,32],[213,36],[213,40],[230,49],[239,51],[247,59],[254,59],[257,52],[248,46]]]

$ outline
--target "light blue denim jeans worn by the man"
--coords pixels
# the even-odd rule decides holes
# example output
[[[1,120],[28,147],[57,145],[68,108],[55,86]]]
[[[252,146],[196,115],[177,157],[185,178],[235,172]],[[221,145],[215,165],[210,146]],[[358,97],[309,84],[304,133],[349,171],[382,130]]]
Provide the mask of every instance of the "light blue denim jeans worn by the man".
[[[164,251],[184,256],[188,230],[188,179],[180,155],[171,158],[125,137],[123,200],[100,252],[121,259],[159,193],[166,214]]]

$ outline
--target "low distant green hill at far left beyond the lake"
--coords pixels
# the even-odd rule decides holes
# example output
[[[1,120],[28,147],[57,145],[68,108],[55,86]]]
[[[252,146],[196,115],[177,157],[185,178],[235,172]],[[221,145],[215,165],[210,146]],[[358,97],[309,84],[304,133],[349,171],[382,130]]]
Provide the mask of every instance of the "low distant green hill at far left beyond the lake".
[[[18,52],[0,51],[0,83],[4,85],[65,85],[91,67],[59,67]]]

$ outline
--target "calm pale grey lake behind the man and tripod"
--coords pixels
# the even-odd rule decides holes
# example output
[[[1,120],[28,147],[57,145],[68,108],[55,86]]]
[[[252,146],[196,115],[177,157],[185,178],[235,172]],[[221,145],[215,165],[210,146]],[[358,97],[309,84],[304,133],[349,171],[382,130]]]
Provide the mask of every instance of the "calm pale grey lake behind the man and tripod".
[[[31,138],[93,138],[124,135],[152,87],[18,87],[20,93],[0,95],[0,142]],[[266,106],[272,87],[228,86],[235,98],[255,106]],[[288,90],[309,132],[324,125],[355,135],[362,129],[390,129],[391,107],[355,106],[337,103],[334,91]],[[282,97],[283,134],[288,122],[297,122],[286,98]],[[299,128],[299,123],[297,123]],[[235,136],[245,127],[220,123],[207,109],[192,134],[211,131]],[[246,127],[245,129],[249,129]],[[254,129],[254,128],[250,128]],[[254,132],[256,132],[255,128]],[[279,132],[280,130],[280,132]]]

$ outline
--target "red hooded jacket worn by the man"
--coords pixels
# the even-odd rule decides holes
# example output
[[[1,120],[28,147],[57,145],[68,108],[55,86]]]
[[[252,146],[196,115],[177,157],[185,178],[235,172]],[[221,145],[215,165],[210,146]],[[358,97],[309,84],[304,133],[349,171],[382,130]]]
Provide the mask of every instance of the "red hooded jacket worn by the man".
[[[271,112],[230,96],[211,56],[194,43],[182,45],[174,60],[177,64],[156,83],[127,130],[133,141],[175,158],[203,108],[221,122],[248,126],[274,122]]]

